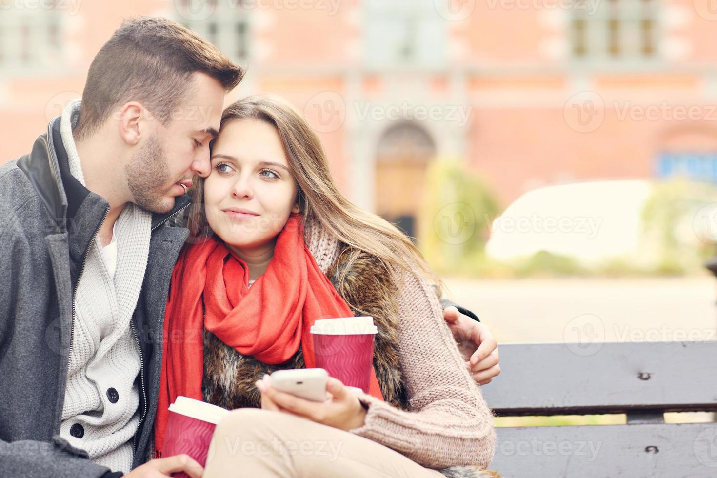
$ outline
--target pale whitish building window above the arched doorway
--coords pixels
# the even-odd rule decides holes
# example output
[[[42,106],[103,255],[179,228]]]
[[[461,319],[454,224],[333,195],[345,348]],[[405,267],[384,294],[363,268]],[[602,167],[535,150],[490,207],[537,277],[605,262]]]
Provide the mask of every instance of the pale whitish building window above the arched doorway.
[[[447,21],[432,1],[366,0],[364,58],[379,67],[440,67],[446,62]]]

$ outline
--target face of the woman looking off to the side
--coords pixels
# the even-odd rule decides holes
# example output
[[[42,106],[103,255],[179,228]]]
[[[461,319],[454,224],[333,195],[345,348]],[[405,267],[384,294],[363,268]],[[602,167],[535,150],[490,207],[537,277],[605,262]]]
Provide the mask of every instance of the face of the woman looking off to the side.
[[[224,125],[204,180],[209,226],[229,245],[272,244],[296,204],[297,187],[274,126],[260,120]]]

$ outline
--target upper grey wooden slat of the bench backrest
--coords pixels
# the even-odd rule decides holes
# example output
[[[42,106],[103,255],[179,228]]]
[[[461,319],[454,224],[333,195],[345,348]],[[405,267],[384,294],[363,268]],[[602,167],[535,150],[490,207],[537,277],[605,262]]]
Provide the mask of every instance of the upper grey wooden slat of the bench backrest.
[[[500,368],[498,415],[717,410],[717,342],[506,344]]]

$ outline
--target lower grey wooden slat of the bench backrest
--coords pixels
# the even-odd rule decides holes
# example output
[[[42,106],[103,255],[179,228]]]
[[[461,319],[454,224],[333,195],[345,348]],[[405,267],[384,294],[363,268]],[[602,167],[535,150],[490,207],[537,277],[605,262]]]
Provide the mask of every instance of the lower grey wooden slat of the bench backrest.
[[[717,424],[499,428],[504,478],[717,476]]]

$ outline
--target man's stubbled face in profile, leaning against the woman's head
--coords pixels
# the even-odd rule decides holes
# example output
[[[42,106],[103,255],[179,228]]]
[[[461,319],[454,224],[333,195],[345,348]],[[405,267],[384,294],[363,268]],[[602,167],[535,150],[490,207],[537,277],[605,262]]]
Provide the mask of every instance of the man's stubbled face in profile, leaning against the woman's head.
[[[166,213],[195,175],[209,174],[209,141],[219,131],[223,105],[222,84],[195,72],[167,125],[150,120],[154,128],[148,128],[148,135],[125,167],[133,203],[147,211]]]

